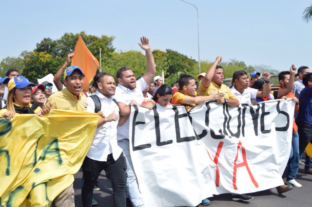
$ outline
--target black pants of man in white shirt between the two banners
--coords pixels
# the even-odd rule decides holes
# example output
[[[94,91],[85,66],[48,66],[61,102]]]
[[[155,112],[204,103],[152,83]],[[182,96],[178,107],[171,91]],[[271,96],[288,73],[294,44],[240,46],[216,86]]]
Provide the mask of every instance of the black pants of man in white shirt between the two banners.
[[[83,207],[91,207],[93,188],[97,183],[99,174],[104,170],[109,174],[114,191],[114,204],[116,207],[126,206],[125,169],[126,164],[121,153],[115,161],[113,154],[107,156],[107,161],[97,161],[85,157],[82,163],[84,184],[81,190]]]

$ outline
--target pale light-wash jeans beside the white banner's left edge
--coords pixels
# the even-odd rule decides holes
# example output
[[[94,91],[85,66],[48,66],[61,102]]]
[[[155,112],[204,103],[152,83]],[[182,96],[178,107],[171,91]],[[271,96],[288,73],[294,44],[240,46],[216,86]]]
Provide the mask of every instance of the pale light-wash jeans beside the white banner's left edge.
[[[138,188],[137,176],[133,170],[133,164],[130,156],[130,143],[127,139],[118,140],[118,146],[122,149],[123,155],[126,158],[126,189],[129,199],[134,207],[144,207],[143,197]]]

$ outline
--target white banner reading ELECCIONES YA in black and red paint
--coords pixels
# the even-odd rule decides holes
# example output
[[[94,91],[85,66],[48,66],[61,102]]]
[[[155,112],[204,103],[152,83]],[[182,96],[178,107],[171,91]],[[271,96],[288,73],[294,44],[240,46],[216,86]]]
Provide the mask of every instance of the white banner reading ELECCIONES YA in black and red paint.
[[[130,151],[147,207],[196,206],[220,193],[283,184],[294,102],[133,107]],[[206,147],[206,149],[205,149]]]

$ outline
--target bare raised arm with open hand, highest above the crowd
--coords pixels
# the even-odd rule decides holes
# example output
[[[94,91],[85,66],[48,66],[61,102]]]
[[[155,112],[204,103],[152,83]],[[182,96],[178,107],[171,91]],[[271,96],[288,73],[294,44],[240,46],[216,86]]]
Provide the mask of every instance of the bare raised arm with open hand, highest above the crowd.
[[[152,79],[155,76],[156,73],[156,67],[155,67],[155,61],[153,57],[153,53],[151,50],[151,45],[145,36],[141,37],[141,43],[138,43],[138,45],[145,51],[146,53],[146,61],[147,61],[147,71],[144,73],[143,78],[147,84],[149,84]]]

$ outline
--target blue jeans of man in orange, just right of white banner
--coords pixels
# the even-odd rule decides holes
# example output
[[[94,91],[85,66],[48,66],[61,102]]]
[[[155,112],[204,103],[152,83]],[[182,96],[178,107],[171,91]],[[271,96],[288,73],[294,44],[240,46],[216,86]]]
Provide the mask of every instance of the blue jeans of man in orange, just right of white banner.
[[[299,169],[299,136],[298,131],[292,134],[291,155],[288,160],[289,168],[287,172],[287,180],[296,178]]]

